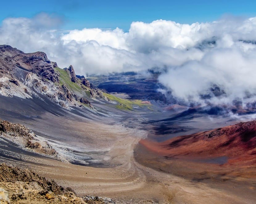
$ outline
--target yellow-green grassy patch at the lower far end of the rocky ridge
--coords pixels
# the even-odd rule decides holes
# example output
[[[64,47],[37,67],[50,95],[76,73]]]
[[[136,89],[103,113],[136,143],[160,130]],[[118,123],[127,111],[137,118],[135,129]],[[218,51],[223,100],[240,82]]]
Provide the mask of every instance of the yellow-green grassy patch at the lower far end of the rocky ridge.
[[[116,96],[113,96],[108,93],[103,93],[105,97],[107,97],[109,100],[116,101],[118,104],[116,105],[116,108],[120,110],[133,110],[134,106],[148,106],[148,104],[142,104],[142,100],[127,100],[127,99],[122,99],[118,98]]]

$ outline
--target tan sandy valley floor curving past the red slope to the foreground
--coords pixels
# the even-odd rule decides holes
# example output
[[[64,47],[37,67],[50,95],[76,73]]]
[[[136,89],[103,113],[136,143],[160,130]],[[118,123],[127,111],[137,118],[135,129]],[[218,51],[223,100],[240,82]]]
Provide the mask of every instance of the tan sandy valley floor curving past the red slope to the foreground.
[[[48,179],[53,178],[60,185],[73,188],[79,195],[105,196],[113,198],[116,203],[255,203],[255,182],[241,189],[239,183],[246,183],[246,179],[237,178],[239,182],[226,184],[219,181],[193,182],[171,171],[150,168],[156,167],[154,159],[149,159],[150,153],[137,146],[139,140],[147,136],[145,131],[84,119],[74,122],[58,118],[45,114],[27,126],[52,141],[58,139],[69,148],[73,146],[73,150],[77,147],[90,152],[92,158],[105,165],[86,167],[29,155],[20,161],[1,160],[32,169]],[[51,128],[53,124],[56,128]],[[45,126],[47,128],[43,128]]]

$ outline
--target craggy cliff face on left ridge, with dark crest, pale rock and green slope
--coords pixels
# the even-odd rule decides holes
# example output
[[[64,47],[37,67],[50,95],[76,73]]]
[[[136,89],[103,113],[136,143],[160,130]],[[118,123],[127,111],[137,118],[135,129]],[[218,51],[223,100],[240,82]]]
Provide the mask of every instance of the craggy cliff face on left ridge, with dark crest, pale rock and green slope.
[[[0,95],[21,98],[45,95],[64,108],[82,104],[93,108],[90,98],[104,97],[90,92],[100,91],[91,88],[85,78],[76,77],[72,65],[60,69],[43,52],[23,53],[9,45],[0,45]]]

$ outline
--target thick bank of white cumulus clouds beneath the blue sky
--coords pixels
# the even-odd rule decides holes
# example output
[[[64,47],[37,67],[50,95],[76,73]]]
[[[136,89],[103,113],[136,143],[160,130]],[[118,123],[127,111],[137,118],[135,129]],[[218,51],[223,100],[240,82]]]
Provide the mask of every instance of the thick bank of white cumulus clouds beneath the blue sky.
[[[7,18],[0,27],[0,44],[46,52],[60,67],[72,64],[82,75],[164,68],[159,81],[185,101],[202,101],[205,94],[212,103],[256,98],[256,18],[227,17],[192,25],[132,22],[128,32],[60,31],[60,23],[47,14]],[[212,87],[223,94],[209,92]]]

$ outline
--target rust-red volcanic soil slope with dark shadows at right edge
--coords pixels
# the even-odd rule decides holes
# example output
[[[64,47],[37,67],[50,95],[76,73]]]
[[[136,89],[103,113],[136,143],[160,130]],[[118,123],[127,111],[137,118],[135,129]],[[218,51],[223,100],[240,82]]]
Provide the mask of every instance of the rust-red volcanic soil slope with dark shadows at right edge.
[[[239,123],[158,143],[140,141],[148,150],[166,158],[204,160],[226,156],[225,165],[256,165],[256,121]]]

